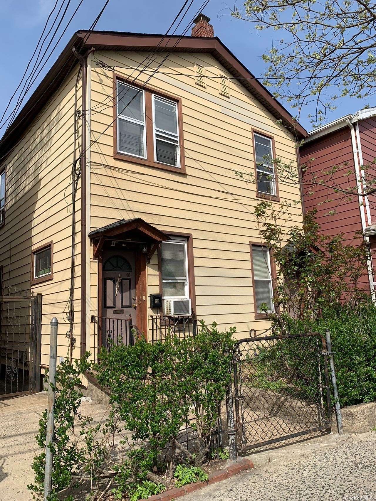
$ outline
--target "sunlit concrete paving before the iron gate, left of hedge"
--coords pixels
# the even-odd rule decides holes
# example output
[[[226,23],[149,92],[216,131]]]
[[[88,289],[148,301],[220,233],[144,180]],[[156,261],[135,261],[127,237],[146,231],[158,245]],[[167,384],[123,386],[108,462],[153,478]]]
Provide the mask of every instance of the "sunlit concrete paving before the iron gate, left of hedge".
[[[27,484],[34,481],[31,469],[41,449],[35,440],[39,419],[47,407],[47,393],[0,400],[0,500],[29,501]],[[107,407],[82,402],[81,411],[101,420]]]

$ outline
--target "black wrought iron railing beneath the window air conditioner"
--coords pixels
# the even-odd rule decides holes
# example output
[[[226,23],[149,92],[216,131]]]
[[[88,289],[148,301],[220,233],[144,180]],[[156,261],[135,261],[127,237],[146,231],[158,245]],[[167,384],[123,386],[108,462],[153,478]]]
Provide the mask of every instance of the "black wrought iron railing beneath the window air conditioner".
[[[151,343],[164,341],[169,336],[179,339],[195,337],[197,334],[196,315],[150,315]]]

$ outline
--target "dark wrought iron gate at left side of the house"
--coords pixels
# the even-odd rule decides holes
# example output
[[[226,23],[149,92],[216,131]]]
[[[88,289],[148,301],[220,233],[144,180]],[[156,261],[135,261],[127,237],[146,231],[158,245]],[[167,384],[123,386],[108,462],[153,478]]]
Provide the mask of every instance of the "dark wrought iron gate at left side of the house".
[[[42,294],[0,296],[0,398],[40,391]]]

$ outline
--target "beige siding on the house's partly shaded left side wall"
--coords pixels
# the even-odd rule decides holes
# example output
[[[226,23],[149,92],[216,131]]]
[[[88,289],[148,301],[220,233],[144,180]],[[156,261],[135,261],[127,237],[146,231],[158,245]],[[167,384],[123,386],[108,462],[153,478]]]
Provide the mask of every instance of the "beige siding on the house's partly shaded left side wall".
[[[53,280],[32,287],[35,294],[43,295],[43,365],[49,363],[50,321],[54,316],[59,320],[58,357],[69,354],[66,337],[69,323],[64,312],[68,308],[72,256],[71,170],[77,71],[78,67],[64,80],[4,160],[7,164],[6,219],[4,227],[0,228],[3,284],[30,290],[32,249],[51,240],[54,243]],[[77,99],[78,108],[81,108],[81,79]],[[80,207],[79,187],[76,197],[75,358],[80,355]]]

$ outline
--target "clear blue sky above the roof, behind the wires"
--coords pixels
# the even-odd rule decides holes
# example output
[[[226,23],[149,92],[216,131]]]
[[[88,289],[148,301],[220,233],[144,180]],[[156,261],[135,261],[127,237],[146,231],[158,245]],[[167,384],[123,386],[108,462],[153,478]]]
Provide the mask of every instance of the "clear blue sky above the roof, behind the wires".
[[[193,18],[202,3],[202,0],[195,0],[189,14],[178,28],[177,34],[185,29],[187,23]],[[55,0],[2,0],[0,2],[0,40],[2,47],[2,51],[0,51],[0,116],[3,114],[25,71],[54,4]],[[78,0],[73,0],[71,4],[66,20],[70,19]],[[70,27],[61,38],[53,56],[36,83],[41,81],[72,34],[79,29],[90,27],[103,4],[104,0],[83,0]],[[165,33],[182,4],[182,0],[110,0],[96,29]],[[250,23],[231,18],[228,5],[230,4],[222,0],[211,0],[204,13],[211,18],[215,35],[256,77],[262,76],[265,64],[261,56],[271,47],[272,37],[276,36],[276,32],[264,31],[260,35]],[[241,7],[242,4],[238,3],[237,5]],[[60,33],[65,25],[66,23],[63,22]],[[190,33],[189,30],[187,34],[190,35]],[[31,93],[28,94],[28,96],[30,95]],[[283,104],[289,109],[288,105]],[[328,113],[327,121],[334,120],[347,113],[354,113],[361,109],[364,104],[366,103],[363,100],[356,98],[338,100],[337,109]],[[372,106],[374,103],[369,104]],[[300,123],[310,130],[308,113],[307,108],[300,118]],[[292,114],[295,114],[295,112],[292,111]],[[2,133],[0,133],[1,135]]]

